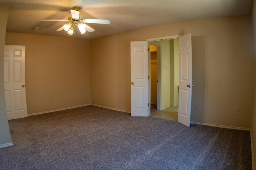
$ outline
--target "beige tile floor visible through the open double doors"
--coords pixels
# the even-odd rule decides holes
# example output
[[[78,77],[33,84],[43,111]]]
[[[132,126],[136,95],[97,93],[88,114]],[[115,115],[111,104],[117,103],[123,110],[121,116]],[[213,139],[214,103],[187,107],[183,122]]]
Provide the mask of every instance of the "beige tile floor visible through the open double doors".
[[[152,117],[157,117],[160,119],[167,119],[172,121],[178,121],[178,107],[168,107],[161,111],[154,111],[151,113]]]

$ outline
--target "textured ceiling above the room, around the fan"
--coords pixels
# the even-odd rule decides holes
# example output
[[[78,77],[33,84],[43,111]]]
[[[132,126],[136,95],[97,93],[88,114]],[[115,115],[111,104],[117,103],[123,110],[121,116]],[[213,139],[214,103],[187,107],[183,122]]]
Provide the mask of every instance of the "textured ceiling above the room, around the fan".
[[[253,0],[0,0],[10,4],[7,32],[46,34],[93,40],[150,26],[226,16],[250,16]],[[79,6],[84,19],[107,19],[110,25],[87,24],[95,29],[81,35],[56,31],[66,22],[70,9]],[[33,30],[39,27],[38,30]]]

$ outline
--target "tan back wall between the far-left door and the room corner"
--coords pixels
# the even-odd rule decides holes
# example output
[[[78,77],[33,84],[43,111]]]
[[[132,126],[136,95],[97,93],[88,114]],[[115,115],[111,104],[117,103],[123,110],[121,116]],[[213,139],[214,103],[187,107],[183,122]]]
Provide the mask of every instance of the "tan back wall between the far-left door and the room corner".
[[[26,45],[28,114],[90,104],[90,41],[7,32],[5,44]]]

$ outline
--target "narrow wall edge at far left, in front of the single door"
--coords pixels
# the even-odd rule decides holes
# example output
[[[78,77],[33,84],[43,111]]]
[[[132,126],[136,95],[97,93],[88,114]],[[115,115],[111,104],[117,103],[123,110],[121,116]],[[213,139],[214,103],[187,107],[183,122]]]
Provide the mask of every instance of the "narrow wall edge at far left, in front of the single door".
[[[10,5],[0,3],[0,147],[12,143],[4,97],[4,39]]]

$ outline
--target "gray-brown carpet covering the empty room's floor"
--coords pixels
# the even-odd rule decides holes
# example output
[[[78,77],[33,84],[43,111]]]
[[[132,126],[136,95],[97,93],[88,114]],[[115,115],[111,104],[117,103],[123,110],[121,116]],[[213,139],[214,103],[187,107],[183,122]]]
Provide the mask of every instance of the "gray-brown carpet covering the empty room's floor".
[[[95,106],[9,121],[0,169],[251,170],[250,132]]]

